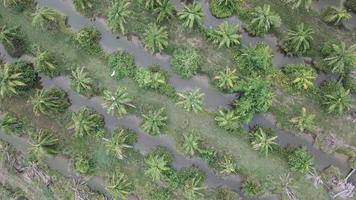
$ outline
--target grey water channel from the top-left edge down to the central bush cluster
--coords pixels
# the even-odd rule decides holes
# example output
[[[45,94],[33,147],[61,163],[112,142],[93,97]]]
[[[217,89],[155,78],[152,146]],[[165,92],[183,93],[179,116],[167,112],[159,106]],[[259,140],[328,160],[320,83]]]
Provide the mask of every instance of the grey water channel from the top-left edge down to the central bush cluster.
[[[133,37],[133,40],[129,41],[127,37],[117,38],[113,34],[104,19],[97,18],[96,20],[90,20],[78,12],[75,11],[72,1],[49,1],[49,0],[37,0],[39,6],[45,6],[53,8],[67,16],[68,24],[74,31],[80,30],[85,26],[94,26],[101,33],[100,44],[107,52],[114,52],[116,50],[125,50],[135,57],[136,64],[139,66],[149,66],[152,64],[158,64],[163,69],[169,72],[171,78],[170,83],[175,87],[177,91],[184,91],[191,88],[200,88],[205,94],[204,103],[209,110],[215,110],[219,106],[228,106],[234,99],[234,95],[225,95],[220,93],[217,89],[212,88],[209,85],[208,78],[205,76],[196,76],[190,80],[183,80],[177,74],[173,73],[169,63],[168,56],[155,56],[149,51],[146,51],[140,44],[139,40]],[[187,84],[189,83],[189,84]]]

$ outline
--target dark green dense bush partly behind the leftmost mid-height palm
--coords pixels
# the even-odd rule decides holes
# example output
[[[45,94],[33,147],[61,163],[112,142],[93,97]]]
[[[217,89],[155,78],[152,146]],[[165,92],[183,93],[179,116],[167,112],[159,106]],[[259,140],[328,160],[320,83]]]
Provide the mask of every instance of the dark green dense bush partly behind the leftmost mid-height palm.
[[[20,74],[19,79],[25,84],[25,86],[19,87],[18,91],[25,92],[36,85],[38,77],[31,63],[16,60],[10,65],[10,74]]]

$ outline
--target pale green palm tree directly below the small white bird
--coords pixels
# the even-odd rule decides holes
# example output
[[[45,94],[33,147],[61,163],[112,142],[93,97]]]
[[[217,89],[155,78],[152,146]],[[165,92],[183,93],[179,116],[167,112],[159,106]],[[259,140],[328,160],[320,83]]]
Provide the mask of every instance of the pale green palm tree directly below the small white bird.
[[[115,93],[105,90],[104,91],[104,107],[110,114],[124,116],[127,114],[127,108],[135,108],[131,103],[132,100],[127,93],[126,88],[118,88]]]

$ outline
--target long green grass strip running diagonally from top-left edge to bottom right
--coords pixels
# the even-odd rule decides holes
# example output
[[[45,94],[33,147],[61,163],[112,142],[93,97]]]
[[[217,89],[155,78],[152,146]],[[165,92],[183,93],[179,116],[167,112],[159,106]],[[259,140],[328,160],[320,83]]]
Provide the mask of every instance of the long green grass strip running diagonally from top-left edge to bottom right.
[[[128,88],[130,95],[135,97],[136,105],[142,105],[143,110],[150,106],[165,106],[169,119],[168,127],[164,131],[165,133],[177,138],[182,133],[175,130],[184,127],[186,121],[188,121],[190,128],[199,130],[198,134],[203,138],[205,143],[233,155],[239,161],[241,171],[245,173],[244,175],[255,176],[260,180],[267,180],[270,177],[273,180],[277,180],[281,174],[288,172],[287,163],[284,158],[274,155],[268,158],[261,156],[258,152],[252,150],[246,139],[230,135],[228,132],[218,128],[210,113],[187,113],[182,108],[177,107],[175,102],[168,97],[158,95],[152,91],[139,89],[132,80],[113,80],[109,77],[111,72],[105,60],[98,56],[89,57],[85,52],[76,49],[70,39],[68,39],[68,33],[49,34],[46,31],[35,30],[30,25],[28,15],[10,13],[2,6],[0,7],[0,11],[3,15],[0,19],[1,23],[7,22],[11,25],[20,25],[29,41],[40,44],[44,48],[61,55],[63,60],[66,61],[63,67],[69,68],[72,64],[85,66],[93,77],[100,81],[102,86],[108,89],[115,89],[117,85]],[[13,102],[11,103],[12,105],[16,105]],[[9,107],[13,106],[9,105]],[[137,113],[140,114],[141,111],[138,110]],[[135,171],[135,173],[130,174],[132,176],[135,174],[135,176],[139,177],[141,173]],[[326,192],[322,188],[314,189],[312,184],[300,175],[296,175],[295,177],[297,191],[303,197],[302,199],[326,198]]]

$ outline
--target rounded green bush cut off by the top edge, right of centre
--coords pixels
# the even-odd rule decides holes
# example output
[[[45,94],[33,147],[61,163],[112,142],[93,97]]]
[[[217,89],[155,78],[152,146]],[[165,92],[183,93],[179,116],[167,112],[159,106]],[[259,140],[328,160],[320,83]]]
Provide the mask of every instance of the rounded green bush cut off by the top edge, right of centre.
[[[209,0],[211,14],[217,18],[232,16],[236,11],[235,0]]]

